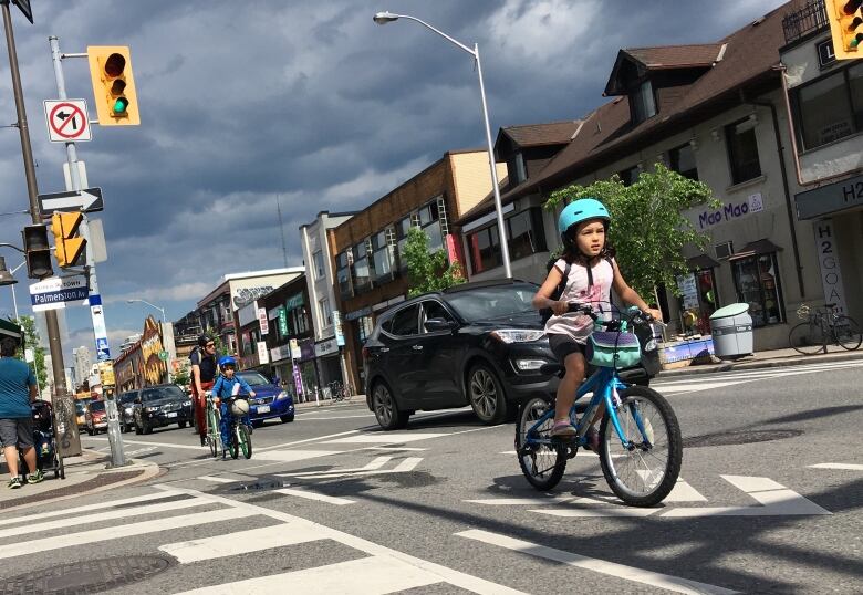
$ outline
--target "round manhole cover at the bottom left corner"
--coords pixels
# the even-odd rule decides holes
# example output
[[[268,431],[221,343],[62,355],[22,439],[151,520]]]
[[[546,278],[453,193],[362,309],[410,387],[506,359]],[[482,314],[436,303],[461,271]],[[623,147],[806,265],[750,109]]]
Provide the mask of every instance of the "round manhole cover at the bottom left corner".
[[[174,560],[163,556],[115,556],[62,564],[21,574],[2,582],[2,595],[77,595],[100,593],[145,581],[168,570]]]

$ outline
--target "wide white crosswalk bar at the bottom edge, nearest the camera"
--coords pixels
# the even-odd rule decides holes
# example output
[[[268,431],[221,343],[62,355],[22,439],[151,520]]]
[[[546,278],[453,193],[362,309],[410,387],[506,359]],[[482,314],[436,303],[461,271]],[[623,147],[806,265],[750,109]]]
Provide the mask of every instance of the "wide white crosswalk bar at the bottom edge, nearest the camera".
[[[332,593],[345,593],[344,589],[349,584],[351,586],[350,593],[383,595],[384,593],[418,588],[440,582],[443,582],[440,576],[394,557],[370,556],[326,566],[196,588],[178,595],[235,595],[237,593],[282,595],[289,591],[308,595],[331,595]]]

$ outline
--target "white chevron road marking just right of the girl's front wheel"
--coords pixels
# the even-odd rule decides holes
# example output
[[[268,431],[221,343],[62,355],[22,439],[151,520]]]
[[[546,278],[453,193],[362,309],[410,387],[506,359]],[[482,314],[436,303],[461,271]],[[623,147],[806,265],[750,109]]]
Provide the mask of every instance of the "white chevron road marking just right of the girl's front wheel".
[[[662,516],[786,516],[832,514],[811,500],[769,478],[720,476],[749,494],[760,507],[698,507],[672,509]]]

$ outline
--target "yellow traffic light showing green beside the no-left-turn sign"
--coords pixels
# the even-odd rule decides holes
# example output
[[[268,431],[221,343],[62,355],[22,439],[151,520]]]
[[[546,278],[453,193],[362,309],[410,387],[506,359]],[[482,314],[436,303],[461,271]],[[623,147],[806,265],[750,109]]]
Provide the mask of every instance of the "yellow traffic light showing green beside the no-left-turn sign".
[[[89,45],[90,79],[102,126],[141,124],[132,60],[125,45]]]

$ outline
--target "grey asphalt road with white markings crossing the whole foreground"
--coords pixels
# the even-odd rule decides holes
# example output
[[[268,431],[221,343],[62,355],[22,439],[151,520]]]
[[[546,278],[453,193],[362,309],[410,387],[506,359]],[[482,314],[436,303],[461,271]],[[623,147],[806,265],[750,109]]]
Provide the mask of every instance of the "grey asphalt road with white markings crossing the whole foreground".
[[[685,438],[683,481],[655,509],[622,505],[591,453],[569,461],[553,493],[537,492],[512,452],[511,424],[485,427],[468,409],[419,414],[384,432],[363,403],[349,403],[257,429],[251,460],[214,461],[188,429],[125,435],[129,456],[165,473],[0,515],[0,584],[3,593],[110,577],[116,593],[860,593],[863,363],[654,386]],[[107,449],[104,436],[82,440]]]

